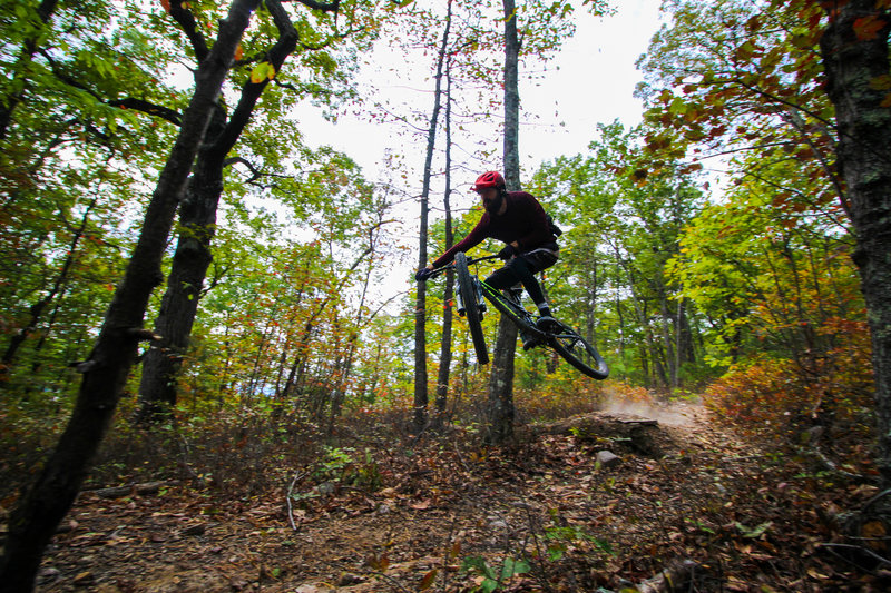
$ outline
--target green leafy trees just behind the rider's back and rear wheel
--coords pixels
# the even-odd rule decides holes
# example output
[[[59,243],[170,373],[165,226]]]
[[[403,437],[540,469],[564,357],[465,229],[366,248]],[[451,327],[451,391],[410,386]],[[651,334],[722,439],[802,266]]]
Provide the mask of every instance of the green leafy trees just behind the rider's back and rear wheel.
[[[670,388],[698,368],[666,267],[702,196],[677,164],[647,160],[642,135],[601,126],[588,155],[546,164],[530,187],[566,229],[546,271],[558,317],[598,346],[613,376]]]

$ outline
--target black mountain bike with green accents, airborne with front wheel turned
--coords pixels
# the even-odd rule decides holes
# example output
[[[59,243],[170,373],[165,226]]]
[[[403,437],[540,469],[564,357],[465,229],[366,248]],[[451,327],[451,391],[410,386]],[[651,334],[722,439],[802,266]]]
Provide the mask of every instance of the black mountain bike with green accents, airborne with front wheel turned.
[[[484,280],[480,280],[476,274],[471,274],[470,266],[473,264],[496,259],[497,257],[486,256],[469,259],[467,254],[459,251],[454,255],[452,264],[434,269],[430,276],[432,278],[449,269],[456,271],[458,315],[467,319],[473,350],[477,353],[479,364],[489,363],[489,350],[486,347],[486,337],[482,333],[482,317],[486,313],[486,300],[488,300],[501,315],[506,315],[526,337],[552,348],[567,363],[585,375],[596,379],[605,379],[609,375],[609,367],[597,352],[597,348],[581,337],[578,332],[560,320],[557,320],[554,327],[547,330],[540,329],[536,325],[536,318],[532,314],[522,306],[520,300],[522,288],[519,288],[519,285],[501,293],[486,284]]]

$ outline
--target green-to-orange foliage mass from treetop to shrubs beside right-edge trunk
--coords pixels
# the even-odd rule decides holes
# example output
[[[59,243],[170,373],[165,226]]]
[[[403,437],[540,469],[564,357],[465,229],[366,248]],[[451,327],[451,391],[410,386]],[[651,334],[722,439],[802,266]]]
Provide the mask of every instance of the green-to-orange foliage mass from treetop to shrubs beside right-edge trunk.
[[[709,405],[793,441],[809,423],[869,425],[865,309],[819,59],[824,10],[805,1],[667,7],[673,26],[640,61],[647,151],[654,161],[719,156],[727,165],[719,199],[684,228],[666,264],[696,307],[703,357],[728,369]]]

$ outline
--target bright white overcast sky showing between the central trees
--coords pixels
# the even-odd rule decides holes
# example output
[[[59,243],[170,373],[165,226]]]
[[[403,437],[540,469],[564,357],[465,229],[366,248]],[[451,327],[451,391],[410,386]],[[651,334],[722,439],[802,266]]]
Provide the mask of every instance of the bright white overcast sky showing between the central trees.
[[[591,17],[580,9],[577,11],[576,34],[565,41],[559,53],[547,63],[544,78],[529,81],[520,73],[520,119],[523,125],[519,145],[525,175],[530,175],[546,160],[584,152],[595,138],[597,123],[609,123],[615,119],[625,125],[640,121],[643,106],[634,98],[634,90],[642,77],[635,62],[646,52],[649,39],[660,26],[660,0],[613,0],[613,4],[618,4],[617,13],[606,18]],[[427,61],[430,59],[424,58]],[[381,62],[386,60],[392,60],[393,65],[389,75],[386,68],[381,69]],[[433,81],[429,63],[411,68],[407,57],[393,56],[391,50],[375,53],[372,62],[378,69],[365,76],[378,87],[380,97],[392,98],[403,93],[409,97],[405,101],[414,103],[430,98]],[[429,101],[432,107],[432,99]],[[366,180],[389,178],[385,157],[390,151],[405,156],[410,170],[404,189],[411,192],[420,187],[425,149],[423,135],[405,135],[404,126],[403,134],[400,134],[395,127],[388,128],[351,116],[341,116],[333,125],[323,120],[319,110],[309,105],[300,109],[297,117],[310,146],[330,145],[345,152],[359,162]],[[493,123],[481,121],[480,127],[481,135],[490,136]],[[493,158],[493,162],[480,167],[501,169],[500,150]],[[476,202],[477,196],[469,188],[479,172],[482,171],[454,172],[452,184],[458,189],[452,198],[453,208],[468,208]],[[433,188],[433,196],[435,191]],[[408,249],[400,261],[390,261],[392,267],[386,280],[374,290],[379,297],[408,290],[412,285],[411,270],[417,267],[418,204],[415,200],[405,201],[393,214],[403,221],[395,233]],[[433,216],[437,214],[434,211]],[[390,230],[394,231],[392,227]],[[431,259],[435,256],[431,254]]]

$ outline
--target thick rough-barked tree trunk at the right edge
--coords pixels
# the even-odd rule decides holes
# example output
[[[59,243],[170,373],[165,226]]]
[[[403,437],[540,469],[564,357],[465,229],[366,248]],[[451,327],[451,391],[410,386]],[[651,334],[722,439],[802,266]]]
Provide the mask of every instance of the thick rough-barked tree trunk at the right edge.
[[[877,465],[883,487],[891,485],[891,109],[888,77],[891,10],[874,0],[832,3],[820,41],[826,92],[835,106],[836,157],[856,237],[854,263],[872,332],[875,373]],[[858,31],[864,20],[877,31]]]

